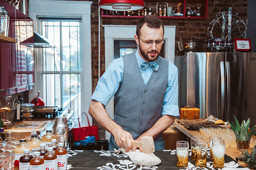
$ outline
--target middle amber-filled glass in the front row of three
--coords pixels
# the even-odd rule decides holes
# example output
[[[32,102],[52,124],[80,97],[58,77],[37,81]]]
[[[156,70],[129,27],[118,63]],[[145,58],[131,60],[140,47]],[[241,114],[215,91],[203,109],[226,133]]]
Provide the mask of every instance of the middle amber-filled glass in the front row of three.
[[[207,148],[208,143],[206,141],[196,142],[196,166],[206,167]]]

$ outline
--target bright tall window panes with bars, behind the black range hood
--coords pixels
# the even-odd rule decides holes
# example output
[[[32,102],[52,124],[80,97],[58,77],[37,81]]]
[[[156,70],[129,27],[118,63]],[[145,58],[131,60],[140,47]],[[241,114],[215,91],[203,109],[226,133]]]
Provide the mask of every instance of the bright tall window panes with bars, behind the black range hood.
[[[42,35],[55,45],[43,48],[41,79],[46,106],[71,108],[81,113],[80,22],[41,19]]]

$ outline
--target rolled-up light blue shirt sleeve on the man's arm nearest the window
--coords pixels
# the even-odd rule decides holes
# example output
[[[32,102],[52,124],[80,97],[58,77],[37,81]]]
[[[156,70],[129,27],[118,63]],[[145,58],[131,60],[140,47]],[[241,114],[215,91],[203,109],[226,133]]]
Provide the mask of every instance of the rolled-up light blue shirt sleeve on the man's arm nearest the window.
[[[123,79],[123,58],[113,60],[108,69],[100,77],[91,99],[107,105],[114,96]]]

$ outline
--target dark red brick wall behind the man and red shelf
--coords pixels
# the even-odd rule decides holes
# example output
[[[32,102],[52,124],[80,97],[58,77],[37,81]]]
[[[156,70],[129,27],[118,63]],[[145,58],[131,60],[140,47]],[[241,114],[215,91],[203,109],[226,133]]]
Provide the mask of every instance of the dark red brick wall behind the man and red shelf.
[[[145,3],[149,7],[151,4]],[[247,18],[247,0],[208,0],[207,19],[162,19],[165,25],[176,25],[175,36],[175,56],[183,55],[179,51],[177,41],[189,40],[190,38],[198,38],[204,41],[206,38],[206,30],[209,22],[220,16],[222,11],[227,11],[228,7],[232,7],[233,14],[238,13],[242,19]],[[93,0],[91,15],[91,39],[92,39],[92,92],[98,81],[98,0]],[[105,72],[105,46],[104,46],[104,30],[102,24],[120,24],[120,25],[136,25],[138,18],[101,18],[101,32],[100,32],[100,74]],[[94,122],[95,124],[95,122]],[[99,130],[99,138],[105,138],[103,130]]]

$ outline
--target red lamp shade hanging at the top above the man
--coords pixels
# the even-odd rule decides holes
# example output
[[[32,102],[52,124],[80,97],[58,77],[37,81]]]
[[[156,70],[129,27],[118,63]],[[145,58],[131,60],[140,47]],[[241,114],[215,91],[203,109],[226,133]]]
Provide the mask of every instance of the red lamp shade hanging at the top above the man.
[[[99,6],[110,11],[135,11],[144,7],[143,0],[100,0]]]

